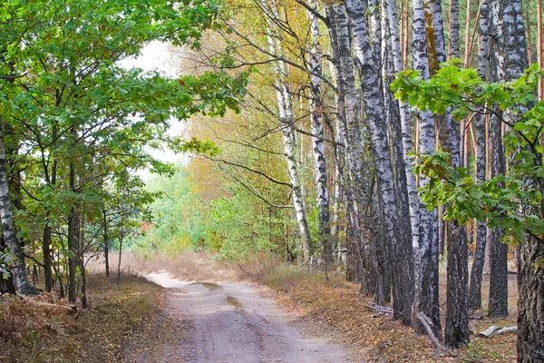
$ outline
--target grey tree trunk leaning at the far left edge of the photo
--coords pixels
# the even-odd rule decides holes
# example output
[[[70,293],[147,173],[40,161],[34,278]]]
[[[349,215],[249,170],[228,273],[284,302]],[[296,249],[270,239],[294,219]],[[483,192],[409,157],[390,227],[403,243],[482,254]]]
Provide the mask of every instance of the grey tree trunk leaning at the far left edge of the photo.
[[[5,161],[4,131],[0,122],[0,217],[4,232],[5,246],[15,261],[11,267],[15,291],[21,295],[36,295],[39,293],[26,277],[26,265],[21,243],[17,238],[15,218],[12,210],[12,199],[7,180],[7,163]]]

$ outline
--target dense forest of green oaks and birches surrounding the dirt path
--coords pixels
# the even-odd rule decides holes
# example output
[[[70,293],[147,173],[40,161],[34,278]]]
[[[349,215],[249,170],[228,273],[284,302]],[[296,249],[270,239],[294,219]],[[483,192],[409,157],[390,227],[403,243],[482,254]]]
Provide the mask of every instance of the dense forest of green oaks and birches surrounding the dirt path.
[[[260,256],[446,352],[515,314],[544,362],[542,30],[541,0],[5,0],[0,295]],[[122,64],[158,43],[175,76]]]

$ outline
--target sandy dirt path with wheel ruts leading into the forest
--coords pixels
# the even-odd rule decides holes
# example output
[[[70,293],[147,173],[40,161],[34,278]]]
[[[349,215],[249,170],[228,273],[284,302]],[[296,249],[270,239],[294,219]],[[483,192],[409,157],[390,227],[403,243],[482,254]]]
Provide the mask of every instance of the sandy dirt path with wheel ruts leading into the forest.
[[[149,278],[168,289],[165,315],[189,330],[188,338],[160,349],[161,362],[349,361],[344,348],[304,332],[296,315],[248,283],[202,284],[165,272]]]

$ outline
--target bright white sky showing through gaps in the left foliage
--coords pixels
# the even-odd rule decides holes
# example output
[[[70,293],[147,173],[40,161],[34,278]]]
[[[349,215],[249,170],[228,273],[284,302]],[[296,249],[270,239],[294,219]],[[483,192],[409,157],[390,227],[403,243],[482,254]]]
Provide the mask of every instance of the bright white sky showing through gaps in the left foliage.
[[[131,57],[124,59],[120,62],[121,66],[126,68],[139,67],[144,71],[159,71],[161,74],[166,76],[175,77],[178,75],[179,67],[176,66],[177,62],[173,58],[176,55],[170,52],[169,45],[160,43],[158,41],[153,41],[150,44],[147,44],[141,51],[139,57]],[[178,120],[171,120],[171,135],[180,135],[184,130],[184,125]],[[148,149],[151,155],[162,162],[172,162],[178,163],[182,162],[183,164],[189,163],[189,157],[187,155],[176,155],[170,150],[156,150]],[[144,181],[148,181],[151,178],[151,173],[149,170],[144,170],[139,172],[139,175]]]

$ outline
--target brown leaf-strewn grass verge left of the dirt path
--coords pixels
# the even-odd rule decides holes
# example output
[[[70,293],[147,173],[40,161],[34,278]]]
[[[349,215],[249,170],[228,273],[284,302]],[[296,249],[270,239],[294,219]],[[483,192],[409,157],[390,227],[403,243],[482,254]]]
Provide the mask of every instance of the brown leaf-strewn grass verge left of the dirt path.
[[[0,362],[122,362],[126,349],[154,325],[163,290],[133,273],[121,285],[89,275],[90,309],[65,309],[0,300]],[[39,299],[58,303],[52,295]],[[62,301],[61,301],[62,302]]]

